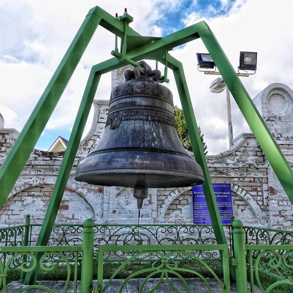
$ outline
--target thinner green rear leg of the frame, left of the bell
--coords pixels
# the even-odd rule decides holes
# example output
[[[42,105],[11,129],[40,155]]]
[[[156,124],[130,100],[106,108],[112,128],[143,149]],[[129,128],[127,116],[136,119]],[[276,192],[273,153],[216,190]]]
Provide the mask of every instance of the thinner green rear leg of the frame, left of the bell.
[[[59,210],[59,206],[64,194],[64,190],[66,188],[70,171],[72,169],[72,165],[74,163],[77,149],[81,141],[81,136],[84,131],[84,127],[86,125],[86,120],[91,110],[91,105],[93,103],[93,99],[94,99],[94,96],[100,81],[100,77],[101,75],[98,73],[91,73],[88,78],[84,95],[81,99],[79,110],[76,115],[76,119],[70,134],[70,138],[67,144],[64,158],[62,160],[62,163],[59,169],[56,183],[54,185],[54,190],[52,192],[52,196],[50,198],[50,202],[47,207],[44,221],[40,229],[36,246],[45,246],[48,244],[48,241],[50,239],[54,222]],[[41,257],[41,253],[36,252],[34,253],[34,255],[39,261]],[[31,282],[33,282],[34,275],[35,275],[35,270],[28,272],[24,282],[26,284],[30,284]]]

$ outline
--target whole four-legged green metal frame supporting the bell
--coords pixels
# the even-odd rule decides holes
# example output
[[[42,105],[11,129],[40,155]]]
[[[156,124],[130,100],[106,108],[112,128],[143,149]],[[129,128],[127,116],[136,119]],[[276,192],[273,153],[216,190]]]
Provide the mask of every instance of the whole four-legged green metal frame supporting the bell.
[[[41,96],[28,122],[25,124],[16,143],[9,152],[3,166],[0,169],[0,205],[3,206],[9,193],[11,192],[18,176],[20,175],[26,161],[28,160],[35,143],[38,141],[46,123],[48,122],[60,96],[62,95],[71,75],[74,72],[86,46],[88,45],[98,24],[124,38],[125,24],[96,6],[92,8],[85,21],[81,25],[76,37],[67,50],[64,58],[54,73],[51,81]],[[268,161],[284,187],[289,199],[293,203],[293,172],[280,148],[272,137],[268,127],[255,108],[251,98],[243,87],[241,81],[232,68],[229,60],[219,46],[216,38],[209,29],[208,25],[202,21],[191,25],[183,30],[167,35],[163,38],[143,37],[127,26],[127,49],[125,60],[131,59],[137,62],[141,59],[154,59],[165,64],[164,54],[173,47],[190,42],[197,38],[202,38],[215,64],[221,72],[228,88],[230,89],[236,103],[239,105],[248,125],[253,131],[260,147],[263,149]],[[123,44],[122,44],[123,45]],[[167,56],[167,66],[173,70],[176,84],[181,100],[181,105],[185,115],[188,131],[190,134],[195,159],[200,164],[205,183],[203,189],[207,198],[207,205],[214,226],[215,236],[218,244],[227,244],[224,230],[222,227],[219,210],[212,188],[204,151],[197,129],[192,103],[190,100],[182,64],[170,54]],[[76,151],[79,146],[82,132],[88,117],[88,113],[93,101],[101,74],[112,71],[127,65],[126,62],[118,63],[116,58],[101,62],[92,67],[88,83],[81,100],[81,105],[74,122],[73,130],[69,139],[67,150],[64,154],[52,197],[45,215],[44,222],[40,231],[37,246],[46,245],[52,231],[52,227],[58,212],[60,202],[70,175]],[[33,274],[28,273],[25,282],[32,282]]]

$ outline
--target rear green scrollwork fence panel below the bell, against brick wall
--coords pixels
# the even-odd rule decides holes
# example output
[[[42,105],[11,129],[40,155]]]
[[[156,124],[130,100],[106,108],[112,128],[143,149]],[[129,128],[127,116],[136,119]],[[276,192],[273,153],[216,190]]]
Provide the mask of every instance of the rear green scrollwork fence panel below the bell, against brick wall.
[[[228,235],[230,233],[228,227]],[[49,240],[50,245],[81,245],[83,226],[56,225]],[[204,245],[216,244],[211,225],[95,225],[94,261],[97,262],[98,248],[101,245]],[[229,237],[229,236],[228,236]],[[132,252],[108,255],[107,261],[124,261]],[[220,260],[217,251],[197,253],[205,260]],[[186,260],[188,255],[177,254],[176,260]],[[154,261],[153,258],[144,258]]]

